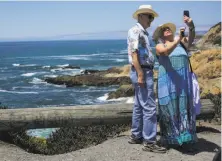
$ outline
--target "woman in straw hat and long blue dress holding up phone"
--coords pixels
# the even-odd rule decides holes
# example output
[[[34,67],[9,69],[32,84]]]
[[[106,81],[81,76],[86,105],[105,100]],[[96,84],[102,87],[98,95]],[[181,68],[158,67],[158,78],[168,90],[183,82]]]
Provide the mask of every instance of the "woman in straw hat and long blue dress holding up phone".
[[[159,26],[153,35],[154,40],[161,41],[156,46],[159,60],[158,103],[161,143],[166,146],[197,141],[187,55],[195,30],[191,18],[184,16],[184,22],[189,27],[188,37],[183,37],[180,32],[175,38],[176,26],[172,23]]]

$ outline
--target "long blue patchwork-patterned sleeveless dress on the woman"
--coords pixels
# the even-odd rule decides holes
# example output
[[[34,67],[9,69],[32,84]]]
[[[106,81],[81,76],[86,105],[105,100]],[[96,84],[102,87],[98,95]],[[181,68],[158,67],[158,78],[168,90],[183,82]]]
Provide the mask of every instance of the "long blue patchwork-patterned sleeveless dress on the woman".
[[[178,45],[169,56],[159,56],[158,104],[161,142],[196,142],[196,115],[186,51]]]

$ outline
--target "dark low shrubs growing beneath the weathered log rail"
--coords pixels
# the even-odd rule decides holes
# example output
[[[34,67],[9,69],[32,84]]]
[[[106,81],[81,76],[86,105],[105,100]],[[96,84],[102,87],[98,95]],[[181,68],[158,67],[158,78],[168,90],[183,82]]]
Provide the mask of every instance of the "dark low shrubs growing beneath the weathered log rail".
[[[100,144],[128,128],[129,125],[126,124],[62,127],[52,133],[48,139],[29,136],[26,134],[26,129],[22,129],[9,132],[8,138],[28,152],[54,155]]]

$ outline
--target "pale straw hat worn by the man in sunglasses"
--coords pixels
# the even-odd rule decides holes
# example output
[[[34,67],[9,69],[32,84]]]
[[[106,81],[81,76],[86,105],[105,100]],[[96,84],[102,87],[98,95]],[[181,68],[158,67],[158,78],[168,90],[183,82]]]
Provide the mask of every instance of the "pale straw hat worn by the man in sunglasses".
[[[138,15],[141,13],[150,13],[154,17],[158,17],[159,15],[152,9],[151,5],[141,5],[139,8],[136,10],[136,12],[133,13],[133,18],[138,19]]]

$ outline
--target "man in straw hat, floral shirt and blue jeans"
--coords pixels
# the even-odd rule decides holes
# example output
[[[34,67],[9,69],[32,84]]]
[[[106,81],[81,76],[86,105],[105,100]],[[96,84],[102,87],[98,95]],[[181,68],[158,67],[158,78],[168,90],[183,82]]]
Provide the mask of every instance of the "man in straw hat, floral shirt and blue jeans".
[[[128,31],[128,57],[131,64],[130,78],[135,88],[135,103],[132,116],[130,144],[141,144],[144,151],[164,153],[166,150],[156,144],[157,117],[153,88],[154,56],[148,32],[158,14],[151,5],[141,5],[133,14],[138,21]]]

